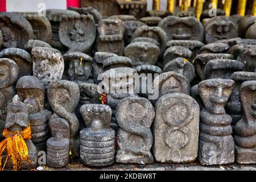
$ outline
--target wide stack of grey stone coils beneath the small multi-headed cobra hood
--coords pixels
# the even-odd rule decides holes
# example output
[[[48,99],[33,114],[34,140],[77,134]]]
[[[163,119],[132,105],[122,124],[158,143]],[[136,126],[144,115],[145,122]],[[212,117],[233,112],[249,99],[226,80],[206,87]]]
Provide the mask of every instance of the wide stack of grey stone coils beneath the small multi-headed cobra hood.
[[[109,166],[115,157],[114,130],[92,131],[90,128],[80,132],[80,160],[87,166]]]

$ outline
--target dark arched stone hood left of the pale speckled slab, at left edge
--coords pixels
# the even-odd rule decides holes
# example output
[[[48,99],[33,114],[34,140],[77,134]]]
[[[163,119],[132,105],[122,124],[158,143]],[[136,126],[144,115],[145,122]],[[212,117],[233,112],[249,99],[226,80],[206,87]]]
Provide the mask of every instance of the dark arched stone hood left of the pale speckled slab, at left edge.
[[[32,73],[32,58],[27,51],[19,48],[7,48],[0,52],[0,57],[15,61],[19,67],[19,78]]]

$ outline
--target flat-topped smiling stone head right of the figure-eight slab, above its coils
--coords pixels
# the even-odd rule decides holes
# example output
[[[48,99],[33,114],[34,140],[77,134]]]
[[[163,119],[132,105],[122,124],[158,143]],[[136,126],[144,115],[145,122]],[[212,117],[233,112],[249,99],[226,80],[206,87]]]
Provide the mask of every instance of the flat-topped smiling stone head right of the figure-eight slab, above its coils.
[[[204,80],[198,86],[205,109],[211,114],[225,114],[224,106],[234,89],[234,81],[228,79]]]

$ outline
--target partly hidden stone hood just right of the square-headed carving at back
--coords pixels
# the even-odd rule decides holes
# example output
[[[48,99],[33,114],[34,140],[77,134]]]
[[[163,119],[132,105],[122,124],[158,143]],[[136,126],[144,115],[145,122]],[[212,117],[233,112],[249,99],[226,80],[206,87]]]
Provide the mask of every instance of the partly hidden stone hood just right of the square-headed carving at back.
[[[125,45],[127,46],[128,44],[131,43],[131,37],[133,36],[134,31],[141,26],[147,26],[147,24],[137,21],[137,20],[128,20],[125,21]]]

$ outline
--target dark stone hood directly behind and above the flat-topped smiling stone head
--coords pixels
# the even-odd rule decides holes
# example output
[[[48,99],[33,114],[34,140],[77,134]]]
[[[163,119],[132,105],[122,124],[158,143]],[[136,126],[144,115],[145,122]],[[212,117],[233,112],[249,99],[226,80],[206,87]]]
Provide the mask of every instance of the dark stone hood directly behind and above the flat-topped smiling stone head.
[[[204,68],[204,80],[212,78],[230,79],[234,72],[242,71],[243,64],[231,59],[213,59]]]

